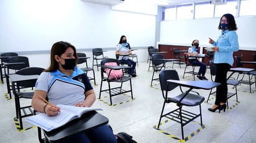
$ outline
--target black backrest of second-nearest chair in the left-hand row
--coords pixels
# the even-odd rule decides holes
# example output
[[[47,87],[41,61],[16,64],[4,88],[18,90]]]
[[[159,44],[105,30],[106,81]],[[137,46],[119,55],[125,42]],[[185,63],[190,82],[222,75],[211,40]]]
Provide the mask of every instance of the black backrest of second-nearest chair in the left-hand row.
[[[29,58],[27,58],[26,56],[12,56],[10,58],[7,58],[6,62],[7,63],[24,63],[24,64],[9,65],[8,69],[19,70],[25,67],[29,67]]]

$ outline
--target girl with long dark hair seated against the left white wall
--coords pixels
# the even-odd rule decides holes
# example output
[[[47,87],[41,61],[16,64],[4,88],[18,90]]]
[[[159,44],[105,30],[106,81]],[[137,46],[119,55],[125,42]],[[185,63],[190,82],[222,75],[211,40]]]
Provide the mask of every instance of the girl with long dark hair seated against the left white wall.
[[[130,48],[129,43],[127,43],[126,36],[124,35],[121,36],[120,41],[117,44],[116,54],[127,54],[127,56],[119,55],[119,63],[130,66],[129,75],[136,77],[136,74],[134,74],[136,63],[135,61],[132,61],[132,59],[129,59],[129,54],[132,54],[132,49]]]

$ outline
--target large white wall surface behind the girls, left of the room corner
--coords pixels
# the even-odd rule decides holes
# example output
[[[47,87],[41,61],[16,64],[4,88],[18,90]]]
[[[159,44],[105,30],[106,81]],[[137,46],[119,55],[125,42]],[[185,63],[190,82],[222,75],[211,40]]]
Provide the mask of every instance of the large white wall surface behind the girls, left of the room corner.
[[[50,50],[56,41],[77,49],[155,45],[155,15],[114,11],[80,0],[1,0],[0,53]]]

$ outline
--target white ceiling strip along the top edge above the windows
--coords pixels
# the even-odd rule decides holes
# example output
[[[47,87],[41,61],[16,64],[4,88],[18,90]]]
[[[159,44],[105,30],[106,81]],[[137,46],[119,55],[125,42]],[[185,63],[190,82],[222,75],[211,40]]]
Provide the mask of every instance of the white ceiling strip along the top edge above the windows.
[[[134,1],[134,2],[150,2],[152,4],[156,4],[158,6],[176,6],[180,4],[191,4],[193,2],[210,2],[210,0],[82,0],[87,2],[96,2],[101,4],[109,4],[109,5],[116,5],[121,4],[125,1]],[[168,4],[163,4],[168,2]]]

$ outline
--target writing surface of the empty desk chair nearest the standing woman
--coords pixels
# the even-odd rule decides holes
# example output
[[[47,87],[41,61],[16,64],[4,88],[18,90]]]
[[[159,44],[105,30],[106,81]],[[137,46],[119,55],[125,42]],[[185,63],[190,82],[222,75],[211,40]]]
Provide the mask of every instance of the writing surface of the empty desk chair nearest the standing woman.
[[[218,87],[221,85],[217,82],[205,81],[205,80],[195,80],[195,81],[184,81],[184,80],[167,80],[167,82],[171,82],[173,84],[181,85],[183,87],[190,87],[193,89],[213,89],[214,87]]]

